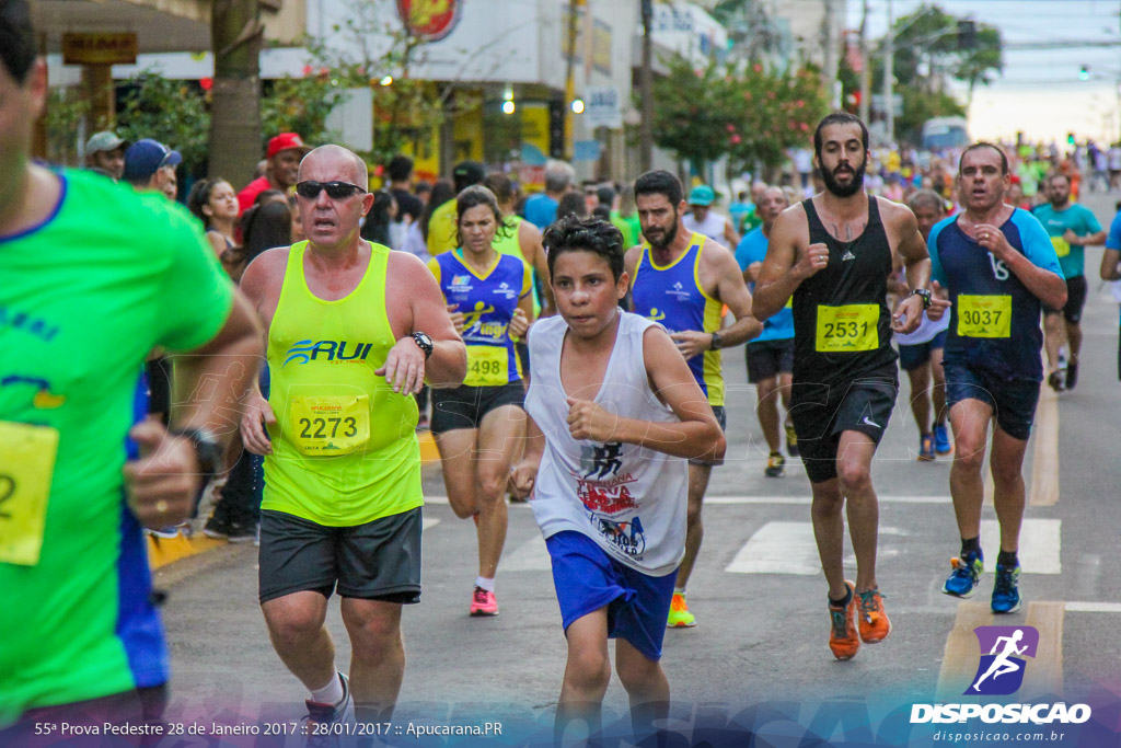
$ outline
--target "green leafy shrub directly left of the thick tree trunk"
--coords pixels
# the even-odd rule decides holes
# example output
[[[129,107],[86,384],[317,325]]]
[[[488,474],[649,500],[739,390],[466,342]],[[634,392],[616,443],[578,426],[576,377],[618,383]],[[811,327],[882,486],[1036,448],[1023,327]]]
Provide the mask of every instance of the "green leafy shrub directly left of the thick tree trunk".
[[[185,174],[206,163],[210,111],[203,92],[184,81],[143,71],[129,80],[117,132],[127,140],[152,138],[183,155]]]

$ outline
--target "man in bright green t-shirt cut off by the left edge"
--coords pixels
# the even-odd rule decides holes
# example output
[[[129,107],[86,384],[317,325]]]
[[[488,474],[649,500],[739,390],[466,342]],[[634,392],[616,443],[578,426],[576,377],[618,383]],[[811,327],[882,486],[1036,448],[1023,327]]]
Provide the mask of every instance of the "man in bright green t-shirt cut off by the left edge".
[[[158,719],[167,649],[141,527],[194,511],[237,423],[226,404],[243,397],[262,349],[186,211],[31,163],[47,96],[36,46],[27,1],[0,3],[4,746],[29,745],[36,724]],[[176,366],[170,431],[142,421],[137,397],[156,345],[193,351]]]

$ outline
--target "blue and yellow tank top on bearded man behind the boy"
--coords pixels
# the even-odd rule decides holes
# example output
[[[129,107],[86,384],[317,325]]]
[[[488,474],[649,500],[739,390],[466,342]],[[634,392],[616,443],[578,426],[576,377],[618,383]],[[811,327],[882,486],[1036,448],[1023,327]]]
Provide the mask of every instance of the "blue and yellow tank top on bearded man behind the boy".
[[[643,243],[634,277],[631,298],[634,312],[647,320],[660,322],[669,332],[697,330],[716,332],[724,305],[704,293],[697,268],[705,237],[693,233],[689,248],[667,266],[656,265],[650,244]],[[693,378],[713,406],[724,405],[724,375],[720,351],[704,351],[688,359]]]

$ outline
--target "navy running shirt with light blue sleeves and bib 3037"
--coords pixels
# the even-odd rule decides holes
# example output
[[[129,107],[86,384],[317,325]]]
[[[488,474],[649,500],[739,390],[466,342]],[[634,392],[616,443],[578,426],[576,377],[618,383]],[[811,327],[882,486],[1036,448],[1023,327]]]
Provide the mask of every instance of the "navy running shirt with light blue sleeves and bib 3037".
[[[1036,267],[1063,277],[1039,221],[1020,209],[1000,227],[1008,243]],[[951,216],[930,230],[932,276],[949,290],[945,362],[984,369],[1006,381],[1044,378],[1041,302]]]

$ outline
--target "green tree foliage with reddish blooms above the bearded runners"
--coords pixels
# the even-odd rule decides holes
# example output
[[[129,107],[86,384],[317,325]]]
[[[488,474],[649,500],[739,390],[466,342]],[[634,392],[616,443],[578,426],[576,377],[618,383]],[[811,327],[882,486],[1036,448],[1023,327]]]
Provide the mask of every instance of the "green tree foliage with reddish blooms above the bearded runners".
[[[654,85],[655,137],[696,168],[722,156],[734,166],[778,166],[787,148],[809,141],[826,112],[821,76],[812,67],[778,72],[758,63],[713,62],[695,71],[682,57],[667,65],[668,75]]]

